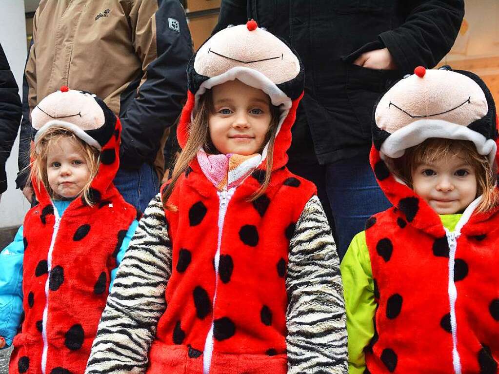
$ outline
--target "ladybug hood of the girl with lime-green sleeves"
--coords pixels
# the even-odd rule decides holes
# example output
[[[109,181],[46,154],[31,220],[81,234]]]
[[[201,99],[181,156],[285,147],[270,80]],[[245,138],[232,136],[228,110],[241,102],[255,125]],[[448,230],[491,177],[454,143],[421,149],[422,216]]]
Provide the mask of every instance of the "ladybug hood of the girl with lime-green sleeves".
[[[421,226],[438,223],[440,227],[440,219],[392,174],[384,162],[387,157],[402,157],[406,149],[429,138],[446,138],[472,141],[481,155],[489,157],[491,167],[499,160],[496,107],[490,90],[476,74],[449,66],[417,67],[388,89],[375,106],[372,134],[370,162],[378,184],[408,222],[419,221]]]

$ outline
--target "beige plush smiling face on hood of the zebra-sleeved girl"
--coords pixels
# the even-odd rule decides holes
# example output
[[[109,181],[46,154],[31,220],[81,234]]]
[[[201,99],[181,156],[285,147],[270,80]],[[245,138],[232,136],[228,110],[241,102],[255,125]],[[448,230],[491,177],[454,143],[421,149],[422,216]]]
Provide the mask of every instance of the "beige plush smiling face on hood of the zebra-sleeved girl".
[[[300,63],[289,48],[265,30],[251,28],[228,27],[208,40],[196,56],[194,68],[198,74],[212,78],[234,67],[248,67],[260,71],[275,84],[296,77]]]

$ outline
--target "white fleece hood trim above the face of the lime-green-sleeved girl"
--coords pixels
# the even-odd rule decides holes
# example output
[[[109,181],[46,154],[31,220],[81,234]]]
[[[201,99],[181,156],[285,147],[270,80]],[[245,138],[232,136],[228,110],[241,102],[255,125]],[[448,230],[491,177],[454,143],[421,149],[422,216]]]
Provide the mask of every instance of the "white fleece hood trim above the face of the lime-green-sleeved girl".
[[[497,145],[493,139],[487,139],[466,126],[434,119],[418,120],[394,132],[381,145],[380,157],[397,159],[404,155],[406,149],[421,144],[429,138],[472,141],[478,153],[487,155],[490,165],[494,165]]]

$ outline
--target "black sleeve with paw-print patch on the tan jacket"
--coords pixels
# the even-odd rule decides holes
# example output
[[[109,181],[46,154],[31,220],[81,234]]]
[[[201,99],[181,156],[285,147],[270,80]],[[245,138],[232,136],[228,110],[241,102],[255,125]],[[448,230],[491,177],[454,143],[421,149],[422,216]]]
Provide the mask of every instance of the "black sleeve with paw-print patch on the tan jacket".
[[[137,10],[138,23],[145,23],[147,27],[155,24],[156,36],[152,41],[139,40],[136,35],[137,54],[143,65],[151,57],[150,53],[156,55],[143,69],[143,83],[137,96],[124,113],[120,113],[123,127],[120,159],[127,169],[137,169],[144,162],[154,161],[162,135],[175,123],[187,95],[186,71],[193,52],[185,10],[178,0],[164,0],[159,4],[154,15],[144,15],[145,11]],[[140,19],[151,16],[155,22]],[[151,48],[154,42],[155,48]]]

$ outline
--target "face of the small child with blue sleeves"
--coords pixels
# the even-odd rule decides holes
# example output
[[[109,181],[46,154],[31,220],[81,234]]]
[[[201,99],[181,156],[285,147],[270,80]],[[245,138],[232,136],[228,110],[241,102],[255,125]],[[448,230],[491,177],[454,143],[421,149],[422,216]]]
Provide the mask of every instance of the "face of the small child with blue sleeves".
[[[48,185],[57,195],[77,196],[90,178],[82,148],[70,139],[61,139],[47,152]]]

